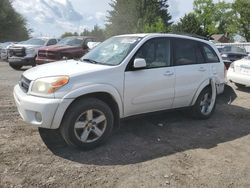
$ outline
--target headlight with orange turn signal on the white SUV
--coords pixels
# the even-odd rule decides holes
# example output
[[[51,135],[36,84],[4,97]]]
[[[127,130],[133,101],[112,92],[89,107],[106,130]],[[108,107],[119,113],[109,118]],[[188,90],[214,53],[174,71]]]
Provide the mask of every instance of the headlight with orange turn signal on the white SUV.
[[[69,82],[68,76],[56,76],[39,78],[34,81],[31,87],[31,93],[48,95],[54,93]]]

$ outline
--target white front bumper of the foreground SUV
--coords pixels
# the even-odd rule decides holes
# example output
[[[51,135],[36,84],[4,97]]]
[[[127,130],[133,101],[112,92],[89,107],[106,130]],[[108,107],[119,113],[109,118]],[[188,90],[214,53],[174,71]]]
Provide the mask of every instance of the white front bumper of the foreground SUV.
[[[27,95],[19,85],[14,88],[14,99],[22,119],[35,126],[57,129],[73,99],[42,98]]]

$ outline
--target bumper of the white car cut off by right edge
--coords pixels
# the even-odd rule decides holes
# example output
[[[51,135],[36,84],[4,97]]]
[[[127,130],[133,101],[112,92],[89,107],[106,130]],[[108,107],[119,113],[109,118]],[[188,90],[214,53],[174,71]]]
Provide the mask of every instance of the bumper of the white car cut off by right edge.
[[[228,70],[227,79],[233,83],[242,84],[245,86],[250,86],[250,75],[236,73],[232,69]]]

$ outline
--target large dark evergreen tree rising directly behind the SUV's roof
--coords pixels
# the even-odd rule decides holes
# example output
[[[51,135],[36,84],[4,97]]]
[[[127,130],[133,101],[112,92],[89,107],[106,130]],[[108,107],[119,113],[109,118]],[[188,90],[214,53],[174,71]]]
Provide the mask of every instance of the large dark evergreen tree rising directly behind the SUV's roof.
[[[171,16],[167,0],[113,0],[107,16],[108,36],[136,32],[166,32]]]

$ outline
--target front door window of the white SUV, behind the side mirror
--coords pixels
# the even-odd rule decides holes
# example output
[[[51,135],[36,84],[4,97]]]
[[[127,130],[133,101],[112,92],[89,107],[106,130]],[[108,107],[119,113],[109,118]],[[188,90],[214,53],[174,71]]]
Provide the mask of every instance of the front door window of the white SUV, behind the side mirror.
[[[135,58],[145,59],[147,68],[170,66],[170,40],[157,38],[147,41],[138,50]]]

